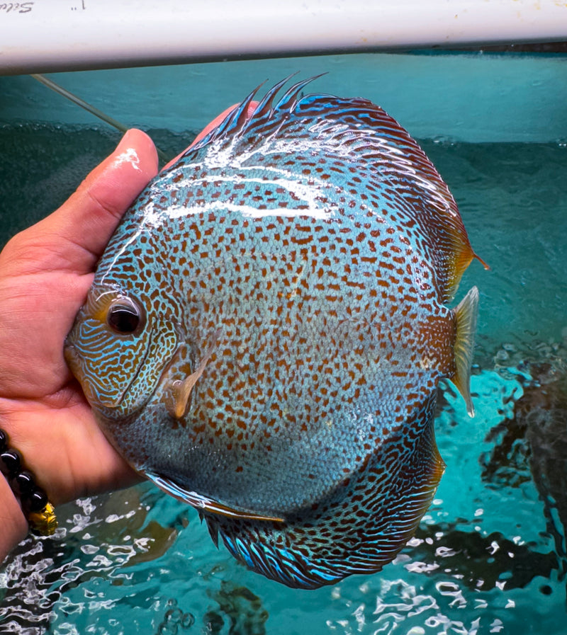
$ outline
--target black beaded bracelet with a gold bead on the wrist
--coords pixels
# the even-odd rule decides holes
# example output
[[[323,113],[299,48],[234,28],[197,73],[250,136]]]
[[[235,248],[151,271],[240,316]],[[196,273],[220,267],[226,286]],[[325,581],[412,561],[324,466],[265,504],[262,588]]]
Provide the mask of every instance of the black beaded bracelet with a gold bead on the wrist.
[[[50,536],[57,529],[57,518],[47,494],[35,483],[33,474],[23,467],[21,454],[8,445],[8,435],[0,428],[0,471],[20,500],[30,530]]]

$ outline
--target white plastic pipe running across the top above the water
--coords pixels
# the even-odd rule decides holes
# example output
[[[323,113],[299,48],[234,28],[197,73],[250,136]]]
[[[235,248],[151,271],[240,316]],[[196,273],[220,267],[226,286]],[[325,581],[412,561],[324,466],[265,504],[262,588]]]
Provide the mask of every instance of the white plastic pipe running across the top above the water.
[[[0,4],[0,74],[566,39],[564,0]]]

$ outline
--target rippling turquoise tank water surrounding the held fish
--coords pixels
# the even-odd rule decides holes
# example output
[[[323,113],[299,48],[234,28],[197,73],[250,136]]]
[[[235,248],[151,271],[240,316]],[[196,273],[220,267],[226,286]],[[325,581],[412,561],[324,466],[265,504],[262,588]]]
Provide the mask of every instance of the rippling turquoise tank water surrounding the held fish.
[[[153,131],[174,154],[191,135]],[[86,127],[0,128],[0,244],[60,204],[118,139]],[[196,513],[148,484],[59,510],[0,570],[0,632],[25,634],[564,635],[567,526],[567,147],[423,147],[473,247],[481,291],[476,418],[451,384],[447,463],[393,564],[317,591],[250,573]]]

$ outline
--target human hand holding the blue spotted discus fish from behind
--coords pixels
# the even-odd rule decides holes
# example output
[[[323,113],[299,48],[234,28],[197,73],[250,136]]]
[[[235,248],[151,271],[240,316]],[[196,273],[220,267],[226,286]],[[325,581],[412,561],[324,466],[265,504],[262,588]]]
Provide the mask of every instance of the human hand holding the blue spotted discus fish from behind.
[[[137,479],[96,425],[63,342],[120,217],[156,172],[151,139],[130,130],[59,210],[0,253],[0,428],[55,505]],[[1,477],[0,527],[1,561],[28,530]]]

